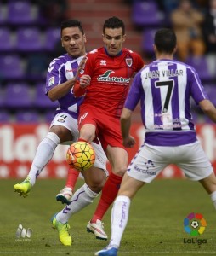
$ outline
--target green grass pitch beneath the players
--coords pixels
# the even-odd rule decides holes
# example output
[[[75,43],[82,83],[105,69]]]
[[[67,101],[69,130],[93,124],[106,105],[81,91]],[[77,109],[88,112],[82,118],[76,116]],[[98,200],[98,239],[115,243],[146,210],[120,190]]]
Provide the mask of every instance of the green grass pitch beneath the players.
[[[0,255],[94,255],[107,245],[86,232],[96,203],[74,215],[69,224],[74,240],[71,247],[60,244],[57,230],[50,218],[63,205],[55,195],[65,185],[65,180],[37,180],[31,194],[22,198],[14,193],[17,180],[0,180]],[[79,180],[77,186],[82,184]],[[185,233],[183,221],[190,212],[199,212],[207,221],[201,236]],[[110,237],[111,209],[106,213],[105,231]],[[18,225],[31,228],[29,239],[17,239]],[[123,255],[216,255],[216,212],[207,193],[199,183],[188,180],[155,180],[145,185],[131,204],[128,226],[118,253]],[[194,243],[184,243],[191,241]],[[198,245],[196,239],[207,243]],[[20,240],[20,241],[19,241]],[[205,241],[204,241],[205,242]]]

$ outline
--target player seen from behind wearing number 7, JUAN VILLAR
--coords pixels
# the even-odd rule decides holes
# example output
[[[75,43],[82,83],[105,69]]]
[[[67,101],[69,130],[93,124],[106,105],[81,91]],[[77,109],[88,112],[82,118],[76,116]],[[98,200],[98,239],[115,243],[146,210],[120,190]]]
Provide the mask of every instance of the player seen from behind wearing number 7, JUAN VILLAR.
[[[190,113],[190,97],[216,123],[216,108],[209,101],[193,67],[174,61],[176,35],[162,28],[156,32],[156,61],[134,77],[121,115],[123,145],[134,146],[131,116],[138,102],[145,126],[145,142],[128,166],[111,212],[111,241],[95,255],[116,256],[128,223],[130,201],[169,164],[179,166],[190,180],[199,181],[216,208],[216,177],[197,140]]]

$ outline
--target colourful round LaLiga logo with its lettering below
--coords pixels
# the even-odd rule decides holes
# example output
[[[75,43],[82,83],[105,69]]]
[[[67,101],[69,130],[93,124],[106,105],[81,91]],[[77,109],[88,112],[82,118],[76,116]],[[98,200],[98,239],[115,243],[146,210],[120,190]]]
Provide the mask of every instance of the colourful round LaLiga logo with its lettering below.
[[[184,219],[184,229],[190,234],[190,236],[200,236],[205,231],[207,227],[207,221],[203,218],[201,213],[191,212]],[[202,243],[207,243],[206,239],[186,239],[184,238],[184,243],[197,243],[201,245]]]

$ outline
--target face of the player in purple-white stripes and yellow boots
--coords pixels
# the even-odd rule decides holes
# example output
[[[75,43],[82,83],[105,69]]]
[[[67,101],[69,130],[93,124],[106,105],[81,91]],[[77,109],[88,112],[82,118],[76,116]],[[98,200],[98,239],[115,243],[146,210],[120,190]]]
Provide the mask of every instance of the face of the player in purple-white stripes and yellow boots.
[[[66,27],[62,30],[61,44],[72,57],[85,55],[85,43],[86,37],[78,27]]]

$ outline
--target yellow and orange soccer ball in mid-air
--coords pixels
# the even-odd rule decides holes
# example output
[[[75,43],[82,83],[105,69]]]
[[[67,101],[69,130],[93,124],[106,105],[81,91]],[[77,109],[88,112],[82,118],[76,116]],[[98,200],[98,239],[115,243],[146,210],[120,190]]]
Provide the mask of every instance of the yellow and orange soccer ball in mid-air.
[[[66,152],[66,161],[69,166],[78,171],[86,171],[94,165],[95,153],[91,144],[86,142],[72,143]]]

